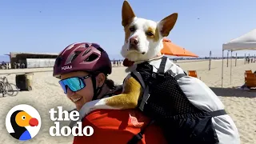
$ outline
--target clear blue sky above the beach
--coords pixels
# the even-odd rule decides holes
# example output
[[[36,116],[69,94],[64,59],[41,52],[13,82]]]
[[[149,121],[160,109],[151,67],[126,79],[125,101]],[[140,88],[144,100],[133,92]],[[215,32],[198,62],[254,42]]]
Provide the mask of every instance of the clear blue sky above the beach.
[[[122,58],[122,2],[118,0],[0,1],[0,55],[59,53],[74,42],[96,42]],[[161,21],[178,13],[168,38],[198,54],[222,56],[222,44],[256,28],[255,0],[129,0],[139,18]],[[225,52],[226,55],[227,52]],[[256,51],[237,51],[238,55]],[[233,52],[234,54],[234,52]]]

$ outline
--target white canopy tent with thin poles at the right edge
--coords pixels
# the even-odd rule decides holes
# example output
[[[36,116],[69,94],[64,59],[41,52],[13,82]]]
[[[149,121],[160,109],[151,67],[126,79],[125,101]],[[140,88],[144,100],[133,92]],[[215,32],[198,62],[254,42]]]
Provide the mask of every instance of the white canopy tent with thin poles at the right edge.
[[[230,65],[230,83],[231,83],[231,70],[232,70],[232,52],[236,50],[256,50],[256,29],[251,30],[249,33],[243,34],[238,38],[232,39],[222,45],[222,86],[223,86],[223,54],[224,50],[231,51],[231,65]]]

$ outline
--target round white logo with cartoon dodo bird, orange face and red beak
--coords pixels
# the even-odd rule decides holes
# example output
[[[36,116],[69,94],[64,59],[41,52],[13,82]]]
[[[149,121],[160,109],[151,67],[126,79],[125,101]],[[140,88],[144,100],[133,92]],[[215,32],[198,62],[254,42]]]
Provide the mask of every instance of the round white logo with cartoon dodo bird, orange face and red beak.
[[[9,134],[21,141],[34,138],[41,127],[38,111],[29,105],[14,106],[6,115],[6,129]]]

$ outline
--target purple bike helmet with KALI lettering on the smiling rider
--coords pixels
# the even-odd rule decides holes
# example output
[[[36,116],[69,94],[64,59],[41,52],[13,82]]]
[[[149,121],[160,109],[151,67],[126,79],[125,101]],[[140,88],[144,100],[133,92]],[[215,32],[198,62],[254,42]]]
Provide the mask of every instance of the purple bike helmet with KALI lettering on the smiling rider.
[[[61,74],[74,71],[111,74],[111,70],[111,61],[105,50],[96,43],[81,42],[67,46],[58,54],[53,75],[60,78]]]

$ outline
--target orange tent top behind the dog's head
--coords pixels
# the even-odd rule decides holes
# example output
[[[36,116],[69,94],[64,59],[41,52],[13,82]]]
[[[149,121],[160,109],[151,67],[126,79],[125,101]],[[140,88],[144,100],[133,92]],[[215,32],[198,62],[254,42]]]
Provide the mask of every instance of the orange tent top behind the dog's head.
[[[163,48],[161,50],[162,54],[174,55],[178,57],[198,57],[198,55],[193,54],[192,52],[185,50],[184,48],[175,45],[169,39],[164,38],[162,40]]]

